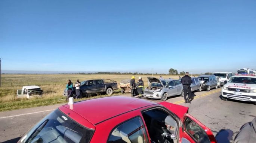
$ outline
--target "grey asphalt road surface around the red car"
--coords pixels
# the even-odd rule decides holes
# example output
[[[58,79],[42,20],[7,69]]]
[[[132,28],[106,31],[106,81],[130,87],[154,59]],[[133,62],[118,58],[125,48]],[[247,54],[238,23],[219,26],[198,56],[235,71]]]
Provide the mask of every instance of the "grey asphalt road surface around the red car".
[[[256,105],[239,101],[222,101],[219,97],[220,89],[194,94],[196,96],[191,104],[185,104],[183,97],[178,96],[168,98],[167,101],[189,107],[189,114],[209,127],[218,143],[232,143],[240,127],[256,117]],[[16,143],[28,129],[60,105],[0,113],[0,142]]]

